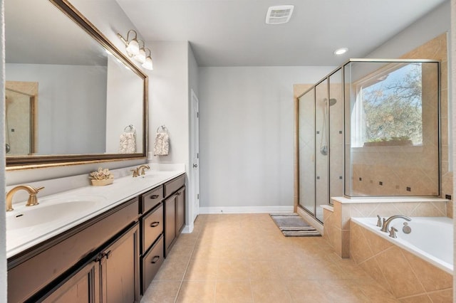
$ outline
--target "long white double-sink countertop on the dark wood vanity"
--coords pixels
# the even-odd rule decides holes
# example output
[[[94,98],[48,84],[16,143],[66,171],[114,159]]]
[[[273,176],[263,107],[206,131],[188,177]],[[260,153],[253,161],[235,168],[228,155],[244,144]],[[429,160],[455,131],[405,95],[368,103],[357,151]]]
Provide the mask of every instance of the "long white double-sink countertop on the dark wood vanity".
[[[114,183],[108,186],[79,186],[81,179],[83,179],[85,184],[89,184],[88,175],[28,183],[32,186],[45,186],[45,188],[37,195],[40,204],[31,207],[25,206],[27,199],[26,191],[18,191],[17,197],[15,197],[18,201],[14,201],[13,203],[14,211],[6,213],[6,257],[12,257],[27,248],[31,248],[33,245],[63,233],[185,172],[179,166],[173,167],[172,169],[175,170],[170,171],[157,171],[155,170],[156,167],[153,166],[150,166],[150,168],[150,170],[146,171],[145,176],[138,178],[131,176],[130,169],[133,169],[133,167],[114,170]],[[56,188],[59,187],[59,184],[62,186],[78,184],[79,187],[58,193]],[[12,187],[14,186],[7,186],[6,191],[9,191]],[[24,193],[26,196],[24,196]],[[68,198],[79,198],[82,201],[85,197],[88,199],[97,197],[97,206],[86,208],[76,213],[70,213],[69,211],[66,213],[62,212],[61,217],[40,224],[39,226],[31,225],[26,228],[9,228],[9,217],[17,216],[29,210],[33,211],[33,209],[46,207],[47,201],[53,203],[54,201],[66,200]],[[52,207],[50,207],[50,211],[53,211]],[[59,213],[53,213],[53,216],[59,216]],[[24,216],[24,218],[26,217]]]

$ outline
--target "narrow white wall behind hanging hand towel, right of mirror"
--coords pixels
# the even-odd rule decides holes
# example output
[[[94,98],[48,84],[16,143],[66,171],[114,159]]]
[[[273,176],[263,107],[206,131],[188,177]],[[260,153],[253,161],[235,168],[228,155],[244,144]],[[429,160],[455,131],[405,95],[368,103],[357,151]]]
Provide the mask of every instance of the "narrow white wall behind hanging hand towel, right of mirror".
[[[188,55],[187,41],[146,42],[154,70],[149,74],[150,151],[160,125],[170,132],[170,153],[152,156],[152,163],[184,163],[188,167]]]

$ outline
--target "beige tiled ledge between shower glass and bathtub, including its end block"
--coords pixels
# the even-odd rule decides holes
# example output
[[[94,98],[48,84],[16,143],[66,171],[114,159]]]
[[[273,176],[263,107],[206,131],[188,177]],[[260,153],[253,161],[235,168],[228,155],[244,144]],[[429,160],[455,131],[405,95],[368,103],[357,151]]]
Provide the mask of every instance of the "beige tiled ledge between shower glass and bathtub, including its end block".
[[[340,257],[350,257],[352,217],[388,218],[446,217],[447,200],[442,198],[356,198],[333,197],[333,206],[323,206],[324,235]]]

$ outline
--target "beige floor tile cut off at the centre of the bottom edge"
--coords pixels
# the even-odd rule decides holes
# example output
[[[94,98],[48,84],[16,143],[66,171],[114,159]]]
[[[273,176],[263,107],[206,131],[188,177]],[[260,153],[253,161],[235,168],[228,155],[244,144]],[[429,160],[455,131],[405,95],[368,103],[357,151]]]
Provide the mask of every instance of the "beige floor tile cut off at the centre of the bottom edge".
[[[254,302],[254,299],[252,297],[252,288],[250,287],[250,281],[217,280],[214,302]]]

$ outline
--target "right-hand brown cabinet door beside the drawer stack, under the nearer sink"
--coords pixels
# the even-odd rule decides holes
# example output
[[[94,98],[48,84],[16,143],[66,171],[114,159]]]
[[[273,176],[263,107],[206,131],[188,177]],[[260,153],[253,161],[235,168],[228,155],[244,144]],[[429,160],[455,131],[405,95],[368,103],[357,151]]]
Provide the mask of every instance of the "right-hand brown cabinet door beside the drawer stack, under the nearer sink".
[[[138,223],[101,255],[102,302],[139,302]]]

